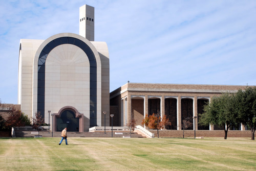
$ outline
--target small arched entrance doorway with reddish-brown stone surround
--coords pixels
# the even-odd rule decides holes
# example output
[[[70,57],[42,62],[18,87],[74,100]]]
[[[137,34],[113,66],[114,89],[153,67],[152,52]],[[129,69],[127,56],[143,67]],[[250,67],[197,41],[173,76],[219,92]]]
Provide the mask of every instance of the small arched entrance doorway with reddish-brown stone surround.
[[[53,131],[60,132],[64,128],[68,128],[69,132],[83,132],[83,114],[79,113],[74,107],[63,107],[53,116]]]

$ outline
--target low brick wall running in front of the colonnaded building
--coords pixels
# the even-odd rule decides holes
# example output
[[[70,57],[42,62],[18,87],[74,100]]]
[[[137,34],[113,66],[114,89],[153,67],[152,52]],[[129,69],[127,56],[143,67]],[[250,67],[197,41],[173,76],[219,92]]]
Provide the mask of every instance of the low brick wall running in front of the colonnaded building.
[[[148,130],[155,134],[157,137],[157,130]],[[224,137],[224,130],[198,130],[196,131],[196,137]],[[194,130],[185,130],[185,137],[194,137]],[[159,130],[159,137],[183,137],[183,130]],[[227,132],[227,137],[251,137],[250,131],[231,131]]]

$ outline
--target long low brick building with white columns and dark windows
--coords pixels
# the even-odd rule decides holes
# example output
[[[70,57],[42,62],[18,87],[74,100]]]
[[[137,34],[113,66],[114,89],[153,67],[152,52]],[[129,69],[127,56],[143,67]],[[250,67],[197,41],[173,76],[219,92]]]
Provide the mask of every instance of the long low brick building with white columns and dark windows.
[[[110,93],[111,112],[116,113],[115,126],[125,126],[134,118],[136,125],[143,126],[146,115],[164,114],[170,119],[171,126],[166,129],[181,130],[182,120],[190,119],[193,126],[188,129],[220,130],[217,126],[199,126],[199,113],[214,96],[224,92],[235,93],[245,86],[229,85],[189,85],[189,84],[146,84],[127,83]],[[196,119],[193,117],[196,116]],[[238,123],[232,129],[244,130]]]

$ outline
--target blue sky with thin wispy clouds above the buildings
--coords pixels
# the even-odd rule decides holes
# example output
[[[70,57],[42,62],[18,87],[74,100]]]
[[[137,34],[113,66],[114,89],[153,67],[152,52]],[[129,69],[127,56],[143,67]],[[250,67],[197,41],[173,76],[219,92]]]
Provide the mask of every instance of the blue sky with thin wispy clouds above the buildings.
[[[20,39],[79,34],[95,7],[110,90],[132,83],[256,85],[256,1],[0,0],[0,99],[17,104]]]

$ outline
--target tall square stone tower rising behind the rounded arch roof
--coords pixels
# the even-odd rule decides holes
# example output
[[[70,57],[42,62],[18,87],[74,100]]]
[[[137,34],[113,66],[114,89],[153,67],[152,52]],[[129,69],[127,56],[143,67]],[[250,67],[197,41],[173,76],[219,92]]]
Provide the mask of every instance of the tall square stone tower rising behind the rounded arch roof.
[[[79,35],[94,41],[94,7],[84,5],[79,8]]]

